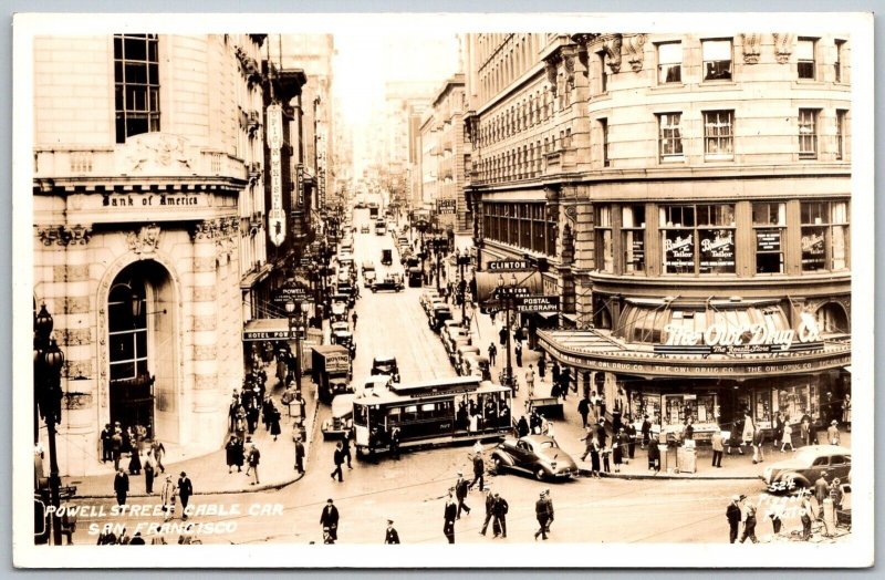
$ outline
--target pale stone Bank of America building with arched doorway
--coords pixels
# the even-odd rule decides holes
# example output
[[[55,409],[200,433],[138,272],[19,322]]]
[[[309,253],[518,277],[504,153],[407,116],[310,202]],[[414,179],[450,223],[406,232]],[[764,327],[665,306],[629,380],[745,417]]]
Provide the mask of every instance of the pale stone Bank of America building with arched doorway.
[[[218,448],[267,276],[263,35],[34,39],[34,304],[64,351],[61,472],[106,423]]]

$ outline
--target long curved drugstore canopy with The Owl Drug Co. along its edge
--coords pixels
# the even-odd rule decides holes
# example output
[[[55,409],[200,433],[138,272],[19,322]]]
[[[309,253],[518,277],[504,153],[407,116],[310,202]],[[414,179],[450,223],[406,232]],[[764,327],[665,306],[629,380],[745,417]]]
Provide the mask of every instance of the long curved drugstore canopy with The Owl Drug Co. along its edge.
[[[608,331],[539,330],[541,348],[562,364],[617,374],[655,377],[745,380],[814,374],[851,363],[851,343],[825,342],[813,351],[758,354],[662,354],[646,344],[624,343]]]

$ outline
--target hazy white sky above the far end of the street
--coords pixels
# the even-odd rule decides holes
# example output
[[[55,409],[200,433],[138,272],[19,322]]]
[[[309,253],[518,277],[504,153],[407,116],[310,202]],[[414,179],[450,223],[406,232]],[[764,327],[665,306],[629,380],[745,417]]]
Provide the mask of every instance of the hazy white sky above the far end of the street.
[[[334,86],[348,125],[366,124],[387,81],[442,81],[458,72],[455,34],[335,34]]]

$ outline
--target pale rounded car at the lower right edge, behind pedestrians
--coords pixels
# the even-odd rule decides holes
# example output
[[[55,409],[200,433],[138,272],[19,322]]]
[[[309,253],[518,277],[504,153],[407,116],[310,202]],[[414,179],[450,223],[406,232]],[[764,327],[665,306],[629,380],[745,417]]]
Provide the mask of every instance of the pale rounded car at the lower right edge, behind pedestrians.
[[[800,447],[789,459],[775,462],[760,477],[771,493],[793,493],[811,488],[826,472],[831,483],[839,477],[845,481],[851,473],[851,449],[840,445],[808,445]]]

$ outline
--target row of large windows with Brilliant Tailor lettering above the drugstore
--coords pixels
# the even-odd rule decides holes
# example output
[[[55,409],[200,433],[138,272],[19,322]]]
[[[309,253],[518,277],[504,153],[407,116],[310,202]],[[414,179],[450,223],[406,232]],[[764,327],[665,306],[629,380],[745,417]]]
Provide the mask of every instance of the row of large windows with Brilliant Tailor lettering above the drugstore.
[[[848,268],[845,200],[801,201],[791,219],[782,201],[752,203],[746,217],[736,211],[736,204],[660,205],[656,226],[646,221],[647,210],[644,204],[596,206],[597,270],[638,275],[648,270],[648,260],[657,260],[655,270],[663,275],[733,275],[743,259],[756,275],[778,275],[787,271],[784,256],[791,242],[798,248],[796,271]],[[745,228],[751,236],[737,236]],[[654,257],[649,236],[657,237]]]

